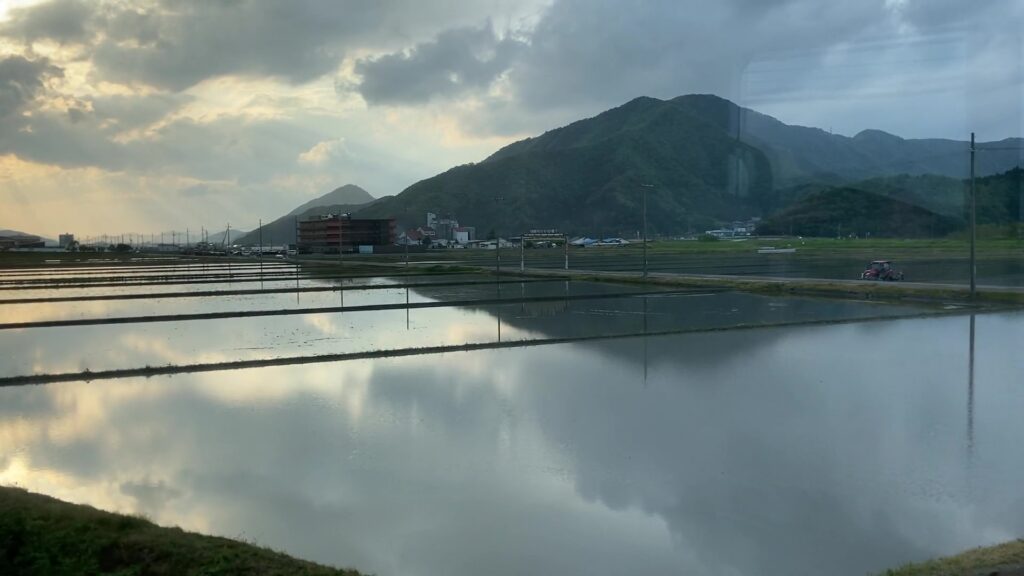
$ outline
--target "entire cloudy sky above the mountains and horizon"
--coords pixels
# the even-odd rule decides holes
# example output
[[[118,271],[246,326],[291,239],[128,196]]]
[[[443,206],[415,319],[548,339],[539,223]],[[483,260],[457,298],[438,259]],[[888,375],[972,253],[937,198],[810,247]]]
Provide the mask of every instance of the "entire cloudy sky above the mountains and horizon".
[[[1024,2],[0,0],[0,229],[252,230],[641,95],[1024,132]]]

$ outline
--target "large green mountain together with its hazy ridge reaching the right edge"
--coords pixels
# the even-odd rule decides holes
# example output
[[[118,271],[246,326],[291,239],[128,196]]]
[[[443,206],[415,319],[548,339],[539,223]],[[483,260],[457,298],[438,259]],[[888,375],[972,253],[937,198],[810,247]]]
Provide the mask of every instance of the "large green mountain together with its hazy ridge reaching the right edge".
[[[978,173],[1014,168],[1021,153],[1001,149],[1022,145],[979,143]],[[673,234],[774,213],[827,186],[904,173],[958,178],[968,161],[965,141],[831,134],[714,95],[640,97],[416,182],[356,215],[408,227],[428,211],[451,213],[481,237],[496,229],[633,236],[646,190],[649,233]],[[814,186],[794,194],[802,184]]]

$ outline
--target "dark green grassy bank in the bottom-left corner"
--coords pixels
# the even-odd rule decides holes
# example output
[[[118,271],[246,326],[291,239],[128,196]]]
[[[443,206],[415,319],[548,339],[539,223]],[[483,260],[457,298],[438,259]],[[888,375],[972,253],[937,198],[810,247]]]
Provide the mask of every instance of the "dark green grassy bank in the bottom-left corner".
[[[358,576],[6,487],[0,487],[0,574]]]

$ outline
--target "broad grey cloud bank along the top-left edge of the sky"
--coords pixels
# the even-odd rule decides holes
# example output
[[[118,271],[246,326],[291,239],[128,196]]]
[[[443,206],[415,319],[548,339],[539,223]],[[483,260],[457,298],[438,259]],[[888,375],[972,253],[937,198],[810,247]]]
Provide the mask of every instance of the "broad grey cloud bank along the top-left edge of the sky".
[[[392,49],[438,26],[479,20],[493,7],[493,2],[461,9],[459,4],[50,0],[12,10],[0,35],[81,44],[101,80],[168,90],[223,75],[303,83],[335,70],[346,50]]]

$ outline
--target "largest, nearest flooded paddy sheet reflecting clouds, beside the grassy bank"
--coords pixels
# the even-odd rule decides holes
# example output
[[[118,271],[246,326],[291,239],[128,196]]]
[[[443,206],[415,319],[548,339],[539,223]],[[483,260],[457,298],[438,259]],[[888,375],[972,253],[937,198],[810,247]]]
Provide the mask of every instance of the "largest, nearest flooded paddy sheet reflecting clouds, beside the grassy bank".
[[[977,327],[973,450],[957,317],[4,388],[0,482],[378,574],[861,575],[1024,532]]]

